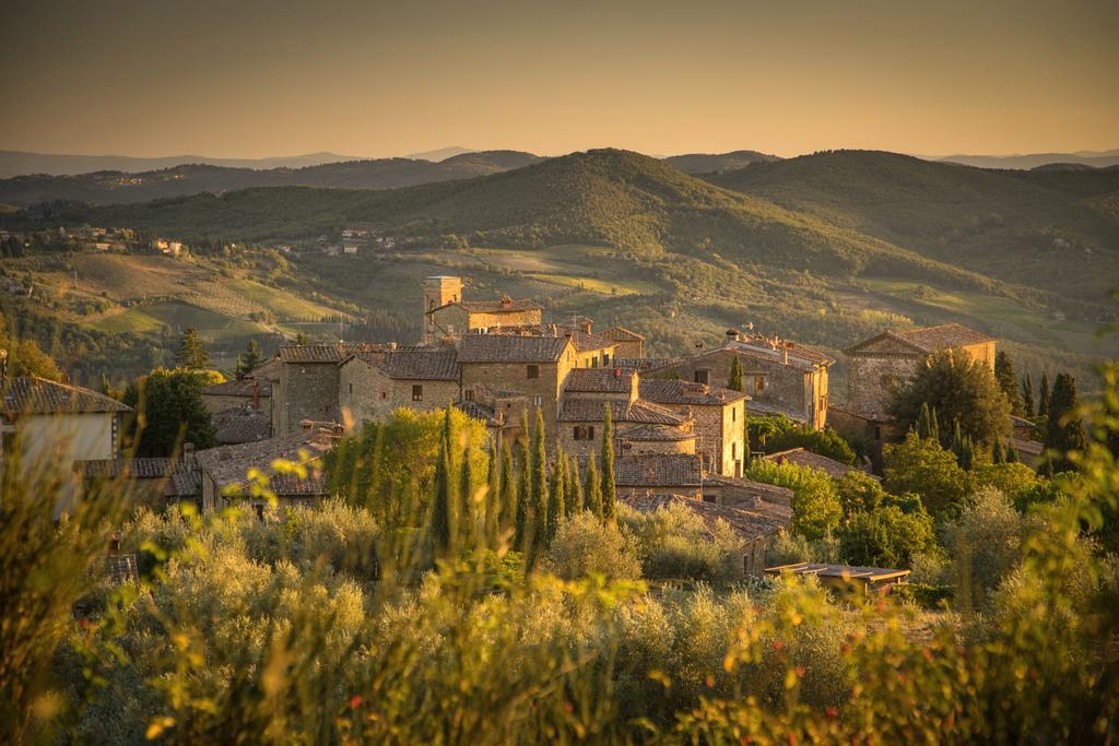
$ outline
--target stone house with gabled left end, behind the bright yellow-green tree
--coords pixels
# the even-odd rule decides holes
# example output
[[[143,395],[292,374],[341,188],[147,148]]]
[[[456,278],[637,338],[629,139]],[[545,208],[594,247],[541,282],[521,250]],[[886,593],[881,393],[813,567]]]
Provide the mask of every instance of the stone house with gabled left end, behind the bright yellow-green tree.
[[[459,400],[459,365],[453,349],[355,352],[339,366],[339,410],[357,427],[394,409],[422,412]]]

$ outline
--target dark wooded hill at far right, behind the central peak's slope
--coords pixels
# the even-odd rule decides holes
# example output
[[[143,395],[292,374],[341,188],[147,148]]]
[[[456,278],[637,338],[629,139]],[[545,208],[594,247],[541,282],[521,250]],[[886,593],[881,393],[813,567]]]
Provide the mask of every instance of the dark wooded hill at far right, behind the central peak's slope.
[[[1015,284],[1102,301],[1119,278],[1119,171],[993,171],[830,151],[711,181]]]

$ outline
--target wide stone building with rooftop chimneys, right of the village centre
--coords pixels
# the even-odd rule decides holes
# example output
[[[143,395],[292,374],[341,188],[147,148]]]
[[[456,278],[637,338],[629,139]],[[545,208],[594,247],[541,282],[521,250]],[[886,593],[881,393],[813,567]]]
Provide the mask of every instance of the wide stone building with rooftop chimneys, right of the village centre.
[[[645,370],[647,378],[679,378],[725,386],[737,358],[750,410],[781,414],[819,429],[827,424],[828,368],[835,360],[777,336],[726,332],[722,347]]]

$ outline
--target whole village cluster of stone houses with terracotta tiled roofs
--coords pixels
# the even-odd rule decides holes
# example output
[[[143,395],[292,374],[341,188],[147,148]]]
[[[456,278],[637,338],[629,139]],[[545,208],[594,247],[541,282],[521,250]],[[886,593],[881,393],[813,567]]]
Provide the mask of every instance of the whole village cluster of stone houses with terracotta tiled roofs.
[[[43,428],[41,437],[25,438],[34,443],[57,431],[51,415],[76,418],[69,455],[87,487],[124,476],[147,485],[153,502],[186,499],[214,510],[246,484],[250,469],[271,473],[274,460],[300,453],[317,460],[345,433],[401,407],[453,404],[483,422],[496,444],[518,437],[523,413],[538,410],[549,452],[562,448],[584,464],[601,451],[609,407],[619,499],[639,510],[680,502],[706,520],[725,520],[749,547],[750,572],[769,538],[789,526],[792,493],[744,479],[747,410],[855,435],[867,445],[869,471],[896,435],[885,414],[895,383],[939,350],[995,361],[995,341],[959,324],[886,331],[845,351],[847,393],[836,404],[828,393],[833,358],[752,330],[727,330],[685,357],[649,358],[645,338],[630,330],[596,331],[590,319],[548,322],[540,305],[524,300],[468,300],[453,276],[424,281],[423,323],[414,346],[285,344],[251,377],[207,387],[219,445],[196,452],[187,444],[176,459],[117,457],[126,407],[41,379],[10,381],[3,426]],[[742,390],[726,387],[732,370],[741,371]],[[1016,444],[1026,456],[1040,452],[1026,435]],[[800,448],[761,455],[833,476],[853,469]],[[305,479],[273,474],[270,488],[290,504],[327,493],[319,471]]]

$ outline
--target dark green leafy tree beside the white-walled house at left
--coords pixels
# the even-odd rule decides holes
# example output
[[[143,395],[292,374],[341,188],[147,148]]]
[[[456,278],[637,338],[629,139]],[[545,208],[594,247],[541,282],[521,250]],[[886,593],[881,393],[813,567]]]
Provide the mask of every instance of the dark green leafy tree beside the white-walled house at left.
[[[137,410],[138,456],[170,456],[184,443],[198,450],[217,445],[203,389],[222,381],[215,371],[157,368],[124,391],[124,404]]]

